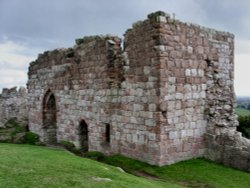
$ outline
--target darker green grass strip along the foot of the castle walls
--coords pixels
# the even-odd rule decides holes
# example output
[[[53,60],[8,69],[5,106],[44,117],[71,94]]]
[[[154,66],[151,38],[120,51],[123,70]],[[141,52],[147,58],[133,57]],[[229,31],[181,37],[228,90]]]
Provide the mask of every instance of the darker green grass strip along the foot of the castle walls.
[[[209,188],[247,188],[250,187],[250,174],[218,165],[204,159],[192,159],[164,167],[114,155],[106,159],[107,163],[121,166],[130,173],[141,172],[157,177],[165,182],[178,183],[188,187]]]

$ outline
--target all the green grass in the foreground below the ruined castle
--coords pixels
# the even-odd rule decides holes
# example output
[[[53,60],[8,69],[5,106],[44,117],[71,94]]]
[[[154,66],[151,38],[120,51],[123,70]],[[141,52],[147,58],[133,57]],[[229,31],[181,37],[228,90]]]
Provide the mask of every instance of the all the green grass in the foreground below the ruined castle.
[[[111,156],[105,162],[77,157],[67,151],[29,145],[0,144],[1,188],[161,188],[218,187],[246,188],[250,174],[202,159],[156,167],[123,156]],[[106,179],[103,179],[106,178]]]

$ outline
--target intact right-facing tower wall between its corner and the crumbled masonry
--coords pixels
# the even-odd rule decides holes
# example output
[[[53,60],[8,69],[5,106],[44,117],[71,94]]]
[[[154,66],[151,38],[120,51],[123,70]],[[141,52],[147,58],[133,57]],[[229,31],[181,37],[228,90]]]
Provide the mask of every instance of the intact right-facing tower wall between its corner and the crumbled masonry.
[[[163,115],[161,164],[203,156],[209,31],[165,14],[151,19],[160,22],[155,49],[159,53],[159,109]]]

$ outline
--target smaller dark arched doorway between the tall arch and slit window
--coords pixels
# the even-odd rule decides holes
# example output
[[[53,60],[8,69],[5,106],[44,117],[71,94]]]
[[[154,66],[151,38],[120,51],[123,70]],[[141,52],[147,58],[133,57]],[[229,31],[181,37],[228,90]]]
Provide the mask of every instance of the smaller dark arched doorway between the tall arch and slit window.
[[[79,124],[79,141],[81,150],[86,152],[89,150],[89,137],[88,137],[88,125],[87,123],[82,120]]]

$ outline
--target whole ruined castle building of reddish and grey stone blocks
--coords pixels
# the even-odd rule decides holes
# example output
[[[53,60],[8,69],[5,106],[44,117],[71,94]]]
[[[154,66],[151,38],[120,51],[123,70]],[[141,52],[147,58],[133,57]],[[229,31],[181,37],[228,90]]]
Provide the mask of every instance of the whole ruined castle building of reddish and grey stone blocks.
[[[43,142],[165,165],[205,157],[250,169],[236,131],[234,36],[156,12],[116,36],[30,64],[28,119]]]

